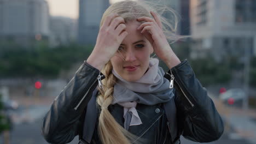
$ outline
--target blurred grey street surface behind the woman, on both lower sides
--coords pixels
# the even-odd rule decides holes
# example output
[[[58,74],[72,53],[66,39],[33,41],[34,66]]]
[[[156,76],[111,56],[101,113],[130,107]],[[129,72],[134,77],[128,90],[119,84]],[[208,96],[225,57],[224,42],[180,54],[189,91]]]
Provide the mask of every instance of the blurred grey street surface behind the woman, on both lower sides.
[[[248,131],[255,131],[256,127],[255,121],[249,121],[246,119],[246,116],[255,117],[256,113],[254,111],[248,111],[247,115],[242,115],[242,110],[235,109],[235,107],[230,107],[228,109],[224,107],[215,99],[214,104],[216,105],[218,111],[222,115],[225,123],[225,131],[223,136],[218,140],[211,142],[210,144],[253,144],[255,141],[253,133]],[[54,98],[44,98],[40,100],[33,99],[20,99],[20,104],[22,100],[26,103],[34,104],[30,106],[23,107],[22,109],[16,112],[14,117],[14,127],[10,133],[10,144],[46,144],[41,135],[41,124],[42,118],[45,113],[49,110],[50,104]],[[246,128],[246,129],[245,129]],[[247,140],[245,140],[247,139]],[[3,144],[3,134],[0,135],[0,144]],[[78,136],[70,144],[78,143]],[[189,141],[181,137],[182,144],[196,144],[197,142]]]

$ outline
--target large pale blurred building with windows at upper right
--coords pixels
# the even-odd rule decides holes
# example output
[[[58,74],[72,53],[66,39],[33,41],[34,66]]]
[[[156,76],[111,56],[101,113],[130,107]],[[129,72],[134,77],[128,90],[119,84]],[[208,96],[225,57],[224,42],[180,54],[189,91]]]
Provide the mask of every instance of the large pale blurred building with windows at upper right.
[[[255,0],[191,0],[192,58],[256,55]]]

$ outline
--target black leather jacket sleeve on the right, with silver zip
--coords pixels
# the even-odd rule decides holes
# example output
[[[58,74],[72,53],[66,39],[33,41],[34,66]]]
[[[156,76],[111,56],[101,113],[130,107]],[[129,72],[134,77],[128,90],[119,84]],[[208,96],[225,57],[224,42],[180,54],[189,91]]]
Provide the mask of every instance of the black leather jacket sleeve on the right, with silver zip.
[[[187,59],[169,70],[174,76],[178,123],[182,123],[181,134],[196,142],[218,140],[224,131],[223,121],[206,88],[196,79]]]

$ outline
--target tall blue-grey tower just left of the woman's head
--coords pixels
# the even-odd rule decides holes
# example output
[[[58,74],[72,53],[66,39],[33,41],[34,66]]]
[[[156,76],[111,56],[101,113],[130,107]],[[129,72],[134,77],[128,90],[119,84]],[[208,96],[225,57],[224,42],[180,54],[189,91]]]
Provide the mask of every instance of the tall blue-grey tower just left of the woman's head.
[[[95,44],[102,14],[109,7],[108,0],[79,0],[78,42]]]

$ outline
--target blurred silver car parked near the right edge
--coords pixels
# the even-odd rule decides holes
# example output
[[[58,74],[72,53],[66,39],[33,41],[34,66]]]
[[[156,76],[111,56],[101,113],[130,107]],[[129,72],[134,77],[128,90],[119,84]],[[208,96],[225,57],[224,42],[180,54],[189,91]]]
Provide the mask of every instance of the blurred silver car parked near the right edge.
[[[246,97],[245,91],[241,88],[231,88],[228,91],[219,94],[219,99],[224,101],[225,104],[228,104],[230,98],[234,99],[234,104],[242,105],[243,99]]]

